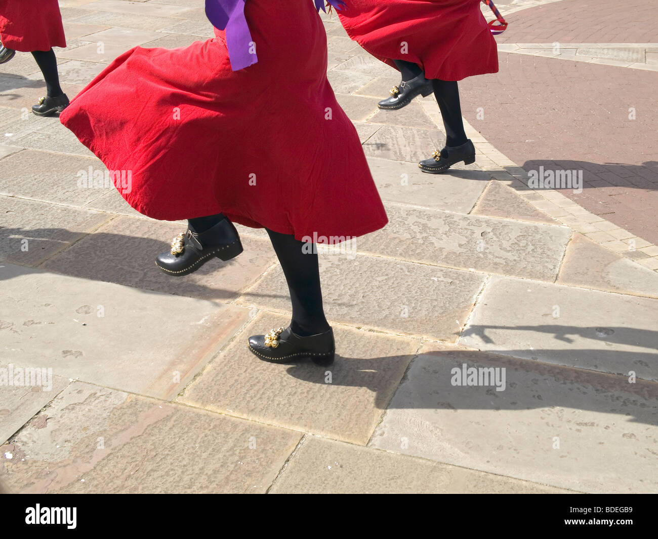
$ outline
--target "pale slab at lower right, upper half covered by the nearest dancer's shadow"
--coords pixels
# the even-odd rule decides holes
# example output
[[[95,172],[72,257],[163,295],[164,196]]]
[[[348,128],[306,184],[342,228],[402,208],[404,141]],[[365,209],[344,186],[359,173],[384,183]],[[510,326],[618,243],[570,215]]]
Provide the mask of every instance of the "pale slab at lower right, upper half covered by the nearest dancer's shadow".
[[[505,368],[505,390],[452,385],[464,364]],[[580,492],[655,493],[657,405],[653,383],[426,343],[369,445]]]

